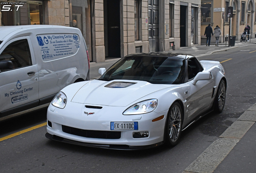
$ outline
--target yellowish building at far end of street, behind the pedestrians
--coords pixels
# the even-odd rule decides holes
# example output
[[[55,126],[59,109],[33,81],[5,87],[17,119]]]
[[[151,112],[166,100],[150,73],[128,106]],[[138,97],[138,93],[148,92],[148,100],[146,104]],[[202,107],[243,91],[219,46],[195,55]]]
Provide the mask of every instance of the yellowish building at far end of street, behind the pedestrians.
[[[250,38],[255,38],[256,34],[256,4],[254,0],[201,0],[201,42],[205,43],[203,35],[205,27],[209,23],[214,29],[217,25],[221,28],[221,42],[225,41],[225,36],[229,34],[229,18],[227,7],[233,7],[233,17],[230,18],[230,35],[236,36],[240,40],[241,34],[247,24],[250,26]],[[224,14],[223,14],[224,13]],[[224,37],[223,37],[224,36]],[[214,42],[215,38],[212,39]]]

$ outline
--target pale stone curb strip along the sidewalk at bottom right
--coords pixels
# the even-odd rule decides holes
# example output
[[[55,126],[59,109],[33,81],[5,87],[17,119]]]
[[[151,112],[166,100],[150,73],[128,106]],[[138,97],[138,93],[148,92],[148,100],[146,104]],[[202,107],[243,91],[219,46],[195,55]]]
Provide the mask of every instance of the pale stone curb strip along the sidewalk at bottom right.
[[[182,173],[213,173],[256,122],[256,103],[247,109],[219,138]]]

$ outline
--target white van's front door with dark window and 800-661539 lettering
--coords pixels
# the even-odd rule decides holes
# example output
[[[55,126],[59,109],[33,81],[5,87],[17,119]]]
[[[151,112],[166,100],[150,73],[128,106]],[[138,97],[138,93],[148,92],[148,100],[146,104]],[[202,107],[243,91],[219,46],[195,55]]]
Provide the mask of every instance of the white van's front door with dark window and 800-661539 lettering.
[[[11,69],[0,69],[0,117],[38,104],[38,69],[31,48],[29,36],[24,36],[6,42],[0,49],[0,61],[13,64]]]

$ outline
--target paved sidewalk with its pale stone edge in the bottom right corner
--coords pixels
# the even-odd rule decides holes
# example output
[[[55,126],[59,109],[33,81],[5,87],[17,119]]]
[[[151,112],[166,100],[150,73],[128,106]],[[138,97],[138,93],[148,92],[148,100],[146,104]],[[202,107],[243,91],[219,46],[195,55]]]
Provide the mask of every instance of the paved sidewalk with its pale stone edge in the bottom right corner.
[[[183,173],[255,173],[256,104],[246,110]]]

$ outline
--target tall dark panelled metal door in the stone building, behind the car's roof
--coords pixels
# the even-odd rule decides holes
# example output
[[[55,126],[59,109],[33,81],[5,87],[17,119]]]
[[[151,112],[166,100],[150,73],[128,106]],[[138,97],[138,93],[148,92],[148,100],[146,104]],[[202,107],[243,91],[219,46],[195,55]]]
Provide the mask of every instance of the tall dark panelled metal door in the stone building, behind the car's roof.
[[[149,52],[159,51],[159,0],[149,0]]]

